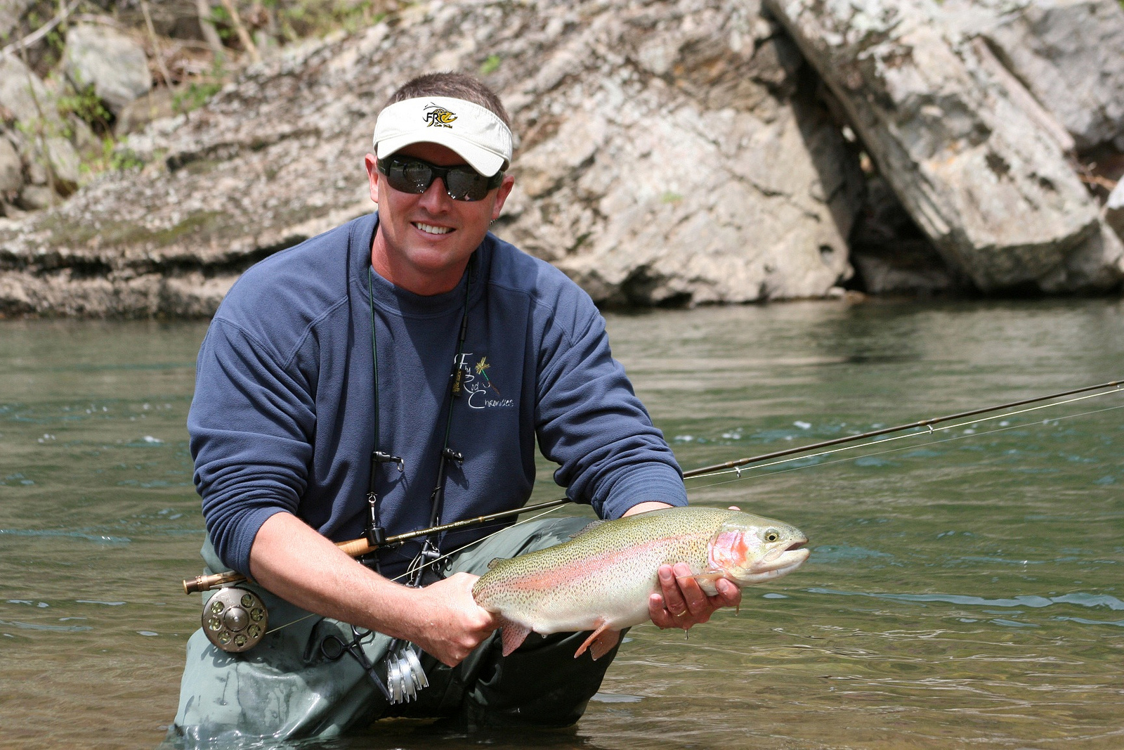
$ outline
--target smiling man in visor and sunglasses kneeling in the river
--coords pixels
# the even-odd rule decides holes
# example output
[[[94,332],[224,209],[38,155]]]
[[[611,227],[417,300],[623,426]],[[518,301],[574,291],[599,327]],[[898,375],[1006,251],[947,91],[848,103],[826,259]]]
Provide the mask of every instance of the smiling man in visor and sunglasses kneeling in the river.
[[[574,659],[584,634],[561,633],[501,657],[496,617],[472,598],[491,559],[565,541],[583,521],[472,528],[365,564],[333,543],[522,506],[536,440],[601,517],[686,505],[592,301],[488,233],[510,160],[493,92],[451,73],[410,81],[365,157],[378,213],[262,261],[216,314],[188,419],[203,557],[255,581],[271,632],[244,654],[192,636],[181,741],[324,738],[390,715],[558,726],[597,690],[615,649]],[[707,597],[687,573],[660,570],[660,627],[740,600],[728,581]],[[430,683],[405,706],[366,669],[391,639],[422,649]]]

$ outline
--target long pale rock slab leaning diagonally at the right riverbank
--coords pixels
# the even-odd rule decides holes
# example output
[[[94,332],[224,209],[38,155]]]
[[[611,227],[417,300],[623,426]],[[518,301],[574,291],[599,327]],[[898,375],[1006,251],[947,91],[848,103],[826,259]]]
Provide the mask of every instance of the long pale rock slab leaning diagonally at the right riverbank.
[[[936,3],[768,4],[951,268],[984,291],[1120,283],[1112,253],[1097,250],[1098,208],[1061,148],[987,74],[970,40],[946,29]],[[1087,268],[1098,257],[1102,269]]]

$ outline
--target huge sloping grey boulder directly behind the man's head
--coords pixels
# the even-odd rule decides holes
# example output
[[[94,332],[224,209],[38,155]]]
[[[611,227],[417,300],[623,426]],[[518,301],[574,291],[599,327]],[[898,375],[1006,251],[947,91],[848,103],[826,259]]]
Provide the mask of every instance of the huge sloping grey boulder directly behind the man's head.
[[[599,301],[816,297],[851,272],[856,156],[754,2],[415,4],[251,67],[126,147],[143,170],[0,229],[0,309],[208,315],[248,264],[372,210],[375,115],[480,73],[522,142],[496,232]]]

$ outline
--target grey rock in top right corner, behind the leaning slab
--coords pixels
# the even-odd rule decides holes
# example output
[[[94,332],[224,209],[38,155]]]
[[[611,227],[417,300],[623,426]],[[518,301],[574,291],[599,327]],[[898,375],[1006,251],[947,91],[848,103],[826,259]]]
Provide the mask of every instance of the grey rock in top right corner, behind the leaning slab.
[[[986,38],[1078,150],[1124,150],[1124,8],[1118,0],[949,0],[943,13]]]

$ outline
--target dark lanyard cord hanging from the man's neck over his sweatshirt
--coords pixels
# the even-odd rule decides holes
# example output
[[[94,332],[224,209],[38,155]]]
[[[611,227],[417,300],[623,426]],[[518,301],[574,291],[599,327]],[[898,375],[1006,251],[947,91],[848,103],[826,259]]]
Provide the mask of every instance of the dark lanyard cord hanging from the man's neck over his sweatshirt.
[[[461,369],[461,355],[464,353],[464,341],[468,337],[469,331],[469,300],[472,293],[472,279],[474,277],[475,265],[477,255],[473,253],[469,260],[468,280],[464,284],[464,305],[461,310],[461,328],[456,341],[456,355],[453,358],[453,370],[450,373],[450,385],[445,398],[448,404],[448,409],[445,415],[445,436],[441,449],[441,455],[437,461],[437,481],[435,482],[433,491],[429,495],[430,526],[439,525],[441,514],[445,501],[445,473],[448,462],[453,461],[459,466],[464,462],[464,455],[448,446],[448,439],[453,432],[453,403],[455,398],[461,395],[461,379],[463,377]],[[374,397],[372,409],[374,450],[371,452],[371,467],[368,476],[366,537],[371,546],[382,546],[386,544],[387,530],[379,522],[379,496],[374,489],[378,479],[378,470],[383,463],[397,463],[398,470],[402,471],[405,468],[405,461],[401,457],[392,455],[391,453],[382,451],[379,448],[379,342],[375,336],[374,269],[370,266],[368,266],[368,302],[371,310],[371,364],[373,371],[371,383]],[[380,571],[378,554],[375,553],[373,557],[375,570]],[[423,572],[426,568],[428,568],[429,563],[438,557],[441,557],[441,550],[437,544],[434,543],[432,537],[426,537],[416,563],[410,566],[411,569],[415,570],[414,575],[410,577],[410,585],[420,584]]]

